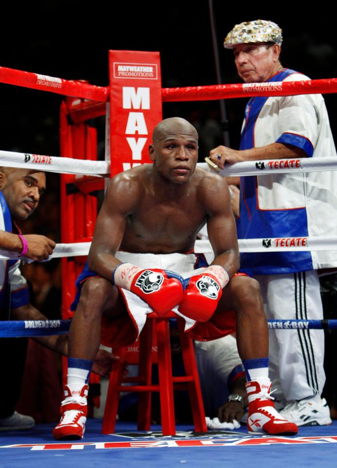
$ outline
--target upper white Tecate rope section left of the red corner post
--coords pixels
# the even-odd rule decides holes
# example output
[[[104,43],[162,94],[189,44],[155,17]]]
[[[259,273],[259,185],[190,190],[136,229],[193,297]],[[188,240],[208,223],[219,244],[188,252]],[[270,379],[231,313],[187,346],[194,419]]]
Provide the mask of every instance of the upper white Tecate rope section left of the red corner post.
[[[72,157],[42,156],[0,150],[0,166],[102,177],[110,175],[110,161],[90,161]]]

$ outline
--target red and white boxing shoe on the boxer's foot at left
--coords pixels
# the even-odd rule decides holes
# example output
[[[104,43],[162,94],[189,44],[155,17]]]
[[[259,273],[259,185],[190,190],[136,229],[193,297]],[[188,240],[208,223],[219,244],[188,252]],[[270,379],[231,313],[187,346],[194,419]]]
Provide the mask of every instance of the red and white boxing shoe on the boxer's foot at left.
[[[61,403],[61,420],[53,429],[57,440],[82,439],[87,420],[88,385],[72,384],[64,387]]]

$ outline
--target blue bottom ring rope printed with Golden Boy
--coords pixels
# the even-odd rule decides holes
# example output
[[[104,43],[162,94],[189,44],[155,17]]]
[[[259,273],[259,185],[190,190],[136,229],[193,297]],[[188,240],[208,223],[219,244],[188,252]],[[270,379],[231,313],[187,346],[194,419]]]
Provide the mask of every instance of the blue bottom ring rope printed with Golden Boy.
[[[50,336],[69,333],[71,320],[0,321],[0,338]],[[337,320],[268,320],[270,330],[333,330]]]

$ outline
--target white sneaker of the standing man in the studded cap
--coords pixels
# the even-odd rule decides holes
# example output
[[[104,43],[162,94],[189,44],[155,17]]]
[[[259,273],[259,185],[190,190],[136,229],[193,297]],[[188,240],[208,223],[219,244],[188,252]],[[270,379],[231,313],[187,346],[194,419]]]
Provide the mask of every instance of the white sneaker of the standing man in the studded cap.
[[[298,426],[326,426],[331,424],[330,409],[325,398],[314,397],[290,401],[280,414]]]

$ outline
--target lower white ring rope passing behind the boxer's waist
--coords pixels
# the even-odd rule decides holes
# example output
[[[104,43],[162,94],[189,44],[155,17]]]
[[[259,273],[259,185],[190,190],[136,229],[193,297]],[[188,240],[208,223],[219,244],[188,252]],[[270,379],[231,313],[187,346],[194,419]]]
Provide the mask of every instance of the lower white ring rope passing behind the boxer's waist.
[[[239,239],[239,250],[248,252],[309,252],[309,251],[337,251],[337,236],[317,237],[274,237],[261,239]],[[88,255],[91,242],[76,242],[72,244],[57,244],[53,254],[49,257],[76,257]],[[213,249],[208,240],[197,240],[194,246],[196,254],[212,253]],[[18,258],[18,254],[0,250],[0,259]],[[31,262],[31,260],[27,260]]]

